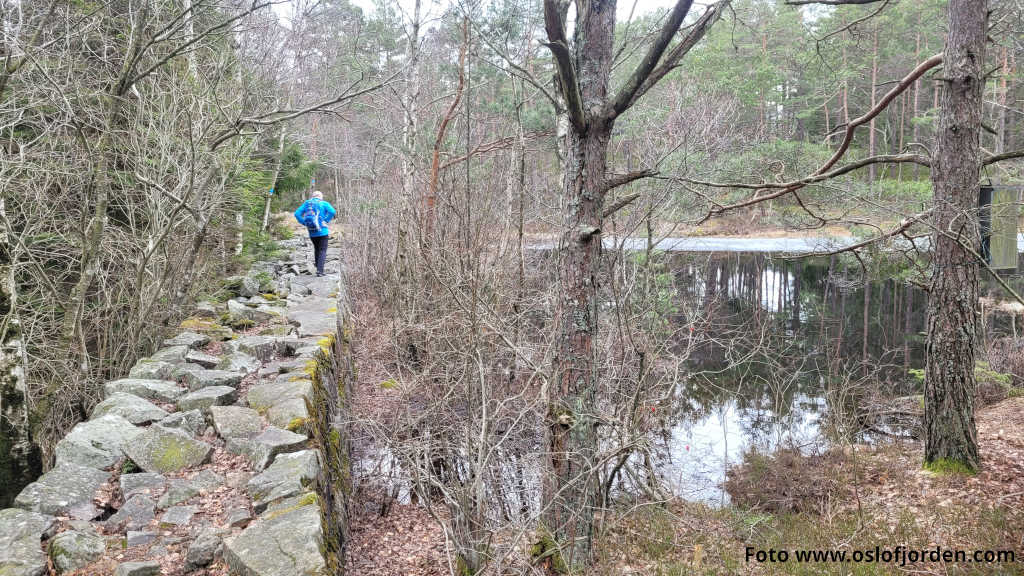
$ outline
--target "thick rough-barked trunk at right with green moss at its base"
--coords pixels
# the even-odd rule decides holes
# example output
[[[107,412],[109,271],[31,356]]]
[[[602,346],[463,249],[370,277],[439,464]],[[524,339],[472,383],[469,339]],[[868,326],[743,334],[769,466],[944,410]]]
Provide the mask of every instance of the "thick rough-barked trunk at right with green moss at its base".
[[[941,113],[932,158],[932,285],[925,368],[925,462],[978,468],[978,166],[987,0],[951,0]]]

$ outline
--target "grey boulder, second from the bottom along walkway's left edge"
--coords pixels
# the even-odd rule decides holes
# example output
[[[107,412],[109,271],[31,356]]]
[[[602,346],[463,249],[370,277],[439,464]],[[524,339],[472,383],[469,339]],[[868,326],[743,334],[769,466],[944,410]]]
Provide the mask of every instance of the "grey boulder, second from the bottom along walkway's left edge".
[[[92,504],[92,497],[111,475],[89,466],[65,463],[55,466],[14,498],[14,506],[45,515],[62,515],[79,504]]]

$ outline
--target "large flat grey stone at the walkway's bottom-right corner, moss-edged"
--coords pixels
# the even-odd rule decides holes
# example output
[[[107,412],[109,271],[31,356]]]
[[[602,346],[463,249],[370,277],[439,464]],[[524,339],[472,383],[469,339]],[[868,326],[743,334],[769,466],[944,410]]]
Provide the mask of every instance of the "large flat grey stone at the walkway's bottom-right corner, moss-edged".
[[[224,561],[241,576],[319,574],[319,506],[315,498],[268,512],[224,541]],[[288,553],[282,553],[288,550]]]

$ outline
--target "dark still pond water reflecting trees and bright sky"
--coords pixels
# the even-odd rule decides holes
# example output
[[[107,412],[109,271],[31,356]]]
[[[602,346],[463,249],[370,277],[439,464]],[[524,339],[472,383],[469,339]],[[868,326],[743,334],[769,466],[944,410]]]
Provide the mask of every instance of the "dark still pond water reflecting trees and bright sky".
[[[694,376],[677,383],[653,450],[652,467],[676,495],[727,503],[726,470],[751,449],[810,452],[840,438],[879,438],[830,405],[853,383],[878,383],[893,396],[920,393],[907,370],[924,367],[927,298],[910,284],[865,282],[855,260],[838,257],[745,251],[667,258],[674,297],[687,313],[681,316],[698,319],[705,334],[689,354]],[[1007,280],[1020,293],[1020,277]],[[983,280],[983,296],[1008,299],[1000,290]],[[985,327],[986,338],[1014,328],[997,314]]]

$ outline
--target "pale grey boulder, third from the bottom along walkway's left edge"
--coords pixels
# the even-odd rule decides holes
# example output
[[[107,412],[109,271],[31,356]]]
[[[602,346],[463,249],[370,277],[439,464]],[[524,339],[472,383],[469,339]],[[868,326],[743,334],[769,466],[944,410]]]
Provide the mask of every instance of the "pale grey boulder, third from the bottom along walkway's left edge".
[[[121,459],[121,449],[141,433],[142,428],[117,414],[79,422],[57,443],[56,463],[109,468]]]

